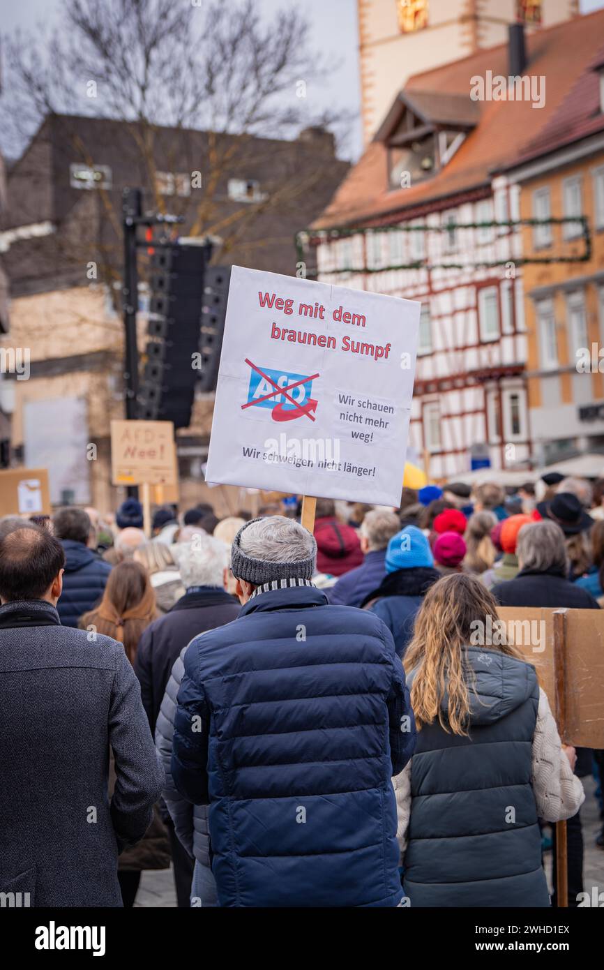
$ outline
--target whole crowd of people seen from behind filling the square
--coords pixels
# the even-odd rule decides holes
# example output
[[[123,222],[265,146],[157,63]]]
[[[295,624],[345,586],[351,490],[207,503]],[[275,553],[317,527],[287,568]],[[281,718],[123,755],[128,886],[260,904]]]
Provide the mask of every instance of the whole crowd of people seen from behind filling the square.
[[[314,534],[278,503],[162,506],[150,536],[136,499],[4,517],[0,891],[131,907],[172,865],[179,907],[547,907],[565,819],[577,905],[602,752],[471,633],[600,608],[603,498],[430,484],[319,499]]]

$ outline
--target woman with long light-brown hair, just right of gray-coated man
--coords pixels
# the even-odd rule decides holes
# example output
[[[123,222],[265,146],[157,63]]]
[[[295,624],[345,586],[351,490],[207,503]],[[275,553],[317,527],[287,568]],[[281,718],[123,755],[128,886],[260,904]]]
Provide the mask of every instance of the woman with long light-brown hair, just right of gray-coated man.
[[[155,594],[146,569],[134,560],[126,560],[111,569],[101,602],[96,609],[84,613],[79,626],[82,630],[105,633],[123,643],[128,660],[134,664],[143,630],[158,616]],[[111,756],[111,789],[113,784],[114,762]],[[170,862],[168,831],[155,805],[153,821],[141,842],[126,847],[118,859],[117,879],[124,906],[134,906],[143,870],[167,869]]]

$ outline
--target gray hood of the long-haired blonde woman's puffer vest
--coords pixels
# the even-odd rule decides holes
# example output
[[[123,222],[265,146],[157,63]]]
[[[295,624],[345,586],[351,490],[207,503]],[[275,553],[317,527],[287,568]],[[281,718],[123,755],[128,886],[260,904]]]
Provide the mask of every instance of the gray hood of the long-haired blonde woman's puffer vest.
[[[508,657],[490,647],[465,647],[465,682],[469,687],[470,724],[490,725],[507,717],[534,691],[530,663]],[[474,689],[472,689],[472,683]],[[441,708],[449,706],[448,694]]]

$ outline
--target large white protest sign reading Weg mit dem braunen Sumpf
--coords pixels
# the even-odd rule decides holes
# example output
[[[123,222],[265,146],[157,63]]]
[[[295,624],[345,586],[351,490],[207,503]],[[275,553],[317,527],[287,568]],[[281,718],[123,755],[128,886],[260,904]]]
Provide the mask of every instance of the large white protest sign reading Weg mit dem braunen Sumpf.
[[[420,304],[234,266],[208,482],[398,505]]]

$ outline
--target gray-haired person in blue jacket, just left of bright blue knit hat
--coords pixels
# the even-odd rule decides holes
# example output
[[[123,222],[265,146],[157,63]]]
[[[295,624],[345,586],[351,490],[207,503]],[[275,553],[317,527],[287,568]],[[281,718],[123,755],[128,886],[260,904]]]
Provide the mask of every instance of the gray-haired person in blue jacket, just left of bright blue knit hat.
[[[340,576],[327,591],[331,603],[361,606],[367,594],[377,589],[386,575],[386,547],[399,531],[400,521],[394,512],[374,508],[366,513],[359,530],[365,560],[361,566]]]

